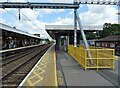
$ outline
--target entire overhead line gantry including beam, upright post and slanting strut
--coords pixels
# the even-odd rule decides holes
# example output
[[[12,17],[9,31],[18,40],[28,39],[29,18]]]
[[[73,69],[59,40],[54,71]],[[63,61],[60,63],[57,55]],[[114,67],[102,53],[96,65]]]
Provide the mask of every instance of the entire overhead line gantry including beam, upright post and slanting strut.
[[[120,6],[120,1],[100,1],[100,0],[74,0],[74,3],[35,3],[35,2],[0,2],[0,8],[49,8],[49,9],[74,9],[74,46],[77,46],[77,22],[79,24],[79,28],[85,43],[86,49],[89,49],[89,45],[87,43],[87,39],[85,33],[83,31],[83,27],[80,22],[80,17],[78,15],[77,9],[80,4],[93,4],[93,5],[117,5]],[[88,51],[88,56],[91,58],[91,54]],[[91,62],[92,63],[92,62]]]

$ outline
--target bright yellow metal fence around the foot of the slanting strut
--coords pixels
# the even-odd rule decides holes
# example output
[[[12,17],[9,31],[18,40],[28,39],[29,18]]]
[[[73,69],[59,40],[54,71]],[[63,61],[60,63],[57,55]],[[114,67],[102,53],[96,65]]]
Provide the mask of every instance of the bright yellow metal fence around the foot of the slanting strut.
[[[88,57],[89,50],[91,58]],[[75,58],[79,64],[86,69],[110,68],[114,69],[114,49],[90,47],[85,49],[84,46],[68,46],[68,53]]]

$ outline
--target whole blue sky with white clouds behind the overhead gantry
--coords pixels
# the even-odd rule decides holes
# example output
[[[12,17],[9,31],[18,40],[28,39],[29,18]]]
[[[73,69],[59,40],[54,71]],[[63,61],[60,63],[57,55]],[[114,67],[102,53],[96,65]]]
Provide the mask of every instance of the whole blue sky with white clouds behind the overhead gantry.
[[[7,0],[0,0],[6,2]],[[48,2],[73,3],[73,0],[8,0],[9,2]],[[85,0],[81,0],[85,1]],[[87,0],[90,1],[90,0]],[[100,0],[102,1],[102,0]],[[108,0],[106,0],[108,1]],[[111,0],[115,1],[115,0]],[[31,34],[40,34],[41,38],[50,38],[45,31],[45,25],[74,25],[74,10],[72,9],[0,9],[0,23],[8,24]],[[80,5],[78,9],[82,25],[103,25],[118,23],[118,7],[111,5]]]

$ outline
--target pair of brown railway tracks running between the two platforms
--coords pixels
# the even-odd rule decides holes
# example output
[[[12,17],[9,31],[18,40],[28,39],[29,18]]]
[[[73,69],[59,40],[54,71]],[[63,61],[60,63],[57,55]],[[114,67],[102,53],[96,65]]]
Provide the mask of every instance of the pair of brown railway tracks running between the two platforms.
[[[29,73],[50,45],[44,45],[30,50],[24,54],[5,60],[2,64],[2,87],[17,87]]]

